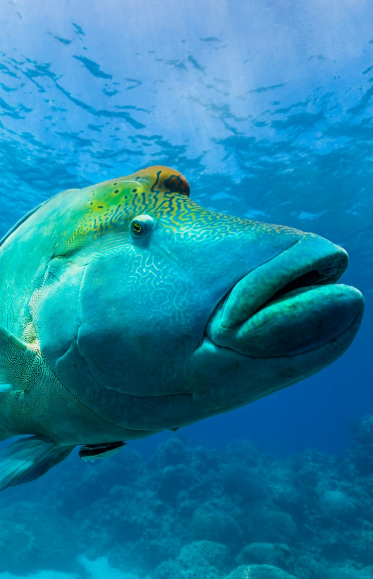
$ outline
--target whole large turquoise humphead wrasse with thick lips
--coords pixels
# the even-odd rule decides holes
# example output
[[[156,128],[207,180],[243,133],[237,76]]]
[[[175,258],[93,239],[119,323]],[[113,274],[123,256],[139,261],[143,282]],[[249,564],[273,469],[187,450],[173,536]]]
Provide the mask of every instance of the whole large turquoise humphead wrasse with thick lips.
[[[346,251],[209,210],[164,166],[58,193],[0,241],[0,490],[76,446],[233,411],[331,364],[361,323]]]

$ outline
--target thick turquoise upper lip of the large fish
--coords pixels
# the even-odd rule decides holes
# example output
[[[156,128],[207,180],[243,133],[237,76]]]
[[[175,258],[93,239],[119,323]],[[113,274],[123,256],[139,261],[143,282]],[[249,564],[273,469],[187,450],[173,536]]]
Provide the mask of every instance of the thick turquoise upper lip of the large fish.
[[[335,284],[347,266],[348,254],[342,247],[306,233],[230,288],[217,304],[205,335],[223,346],[226,335],[276,299],[297,289],[304,291],[308,286]]]

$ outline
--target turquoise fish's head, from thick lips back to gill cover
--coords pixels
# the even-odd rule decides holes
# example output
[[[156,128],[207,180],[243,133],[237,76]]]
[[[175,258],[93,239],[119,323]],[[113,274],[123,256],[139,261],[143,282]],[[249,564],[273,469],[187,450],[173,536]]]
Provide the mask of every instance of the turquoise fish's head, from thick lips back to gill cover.
[[[70,194],[55,230],[64,313],[46,294],[42,350],[79,400],[134,431],[184,426],[312,375],[363,315],[360,292],[336,284],[344,249],[219,214],[189,192],[178,171],[149,167]]]

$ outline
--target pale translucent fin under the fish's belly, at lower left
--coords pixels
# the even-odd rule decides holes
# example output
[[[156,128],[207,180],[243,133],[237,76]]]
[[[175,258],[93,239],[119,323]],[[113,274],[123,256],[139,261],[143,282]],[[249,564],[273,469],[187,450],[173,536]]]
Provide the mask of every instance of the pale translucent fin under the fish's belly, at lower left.
[[[42,477],[75,446],[62,446],[36,436],[19,438],[0,452],[0,492]]]

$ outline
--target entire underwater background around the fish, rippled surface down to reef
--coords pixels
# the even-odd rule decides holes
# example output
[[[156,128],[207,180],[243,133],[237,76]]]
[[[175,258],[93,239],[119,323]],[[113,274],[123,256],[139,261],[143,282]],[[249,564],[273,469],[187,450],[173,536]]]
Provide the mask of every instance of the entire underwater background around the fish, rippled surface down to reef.
[[[366,302],[312,378],[6,490],[0,578],[373,577],[371,3],[2,0],[0,23],[0,237],[165,164],[202,206],[342,245]]]

